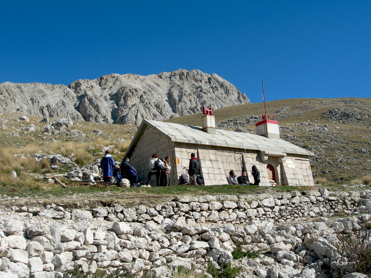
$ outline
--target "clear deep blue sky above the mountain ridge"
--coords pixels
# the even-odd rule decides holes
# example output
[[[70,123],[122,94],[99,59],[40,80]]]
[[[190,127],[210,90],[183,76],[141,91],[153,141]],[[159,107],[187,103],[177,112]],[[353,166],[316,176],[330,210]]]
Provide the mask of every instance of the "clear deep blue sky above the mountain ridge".
[[[252,102],[371,97],[371,1],[4,1],[0,83],[183,68]],[[158,3],[156,3],[158,2]]]

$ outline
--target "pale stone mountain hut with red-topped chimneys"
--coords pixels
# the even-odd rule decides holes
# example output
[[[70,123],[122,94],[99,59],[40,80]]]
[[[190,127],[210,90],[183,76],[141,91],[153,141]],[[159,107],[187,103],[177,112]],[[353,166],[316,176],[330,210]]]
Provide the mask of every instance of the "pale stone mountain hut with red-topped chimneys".
[[[138,181],[146,181],[153,153],[170,156],[171,185],[187,173],[191,153],[196,153],[205,185],[228,183],[229,171],[260,171],[260,185],[313,185],[309,156],[312,152],[279,138],[278,122],[265,119],[256,124],[257,134],[215,128],[212,110],[203,107],[202,127],[142,120],[124,158],[137,169]],[[153,176],[154,177],[154,176]],[[151,184],[154,184],[152,178]]]

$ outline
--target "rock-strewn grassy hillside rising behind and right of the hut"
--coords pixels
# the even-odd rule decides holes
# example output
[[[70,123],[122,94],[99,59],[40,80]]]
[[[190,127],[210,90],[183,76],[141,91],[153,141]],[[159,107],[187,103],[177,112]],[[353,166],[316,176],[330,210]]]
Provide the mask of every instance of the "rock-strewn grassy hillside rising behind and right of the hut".
[[[371,98],[274,100],[266,102],[266,110],[279,121],[282,139],[315,153],[311,157],[315,178],[349,183],[371,174]],[[263,113],[263,103],[213,111],[217,128],[250,133],[255,133],[255,123]],[[167,121],[201,126],[201,115]],[[259,119],[246,124],[244,119],[252,115]]]

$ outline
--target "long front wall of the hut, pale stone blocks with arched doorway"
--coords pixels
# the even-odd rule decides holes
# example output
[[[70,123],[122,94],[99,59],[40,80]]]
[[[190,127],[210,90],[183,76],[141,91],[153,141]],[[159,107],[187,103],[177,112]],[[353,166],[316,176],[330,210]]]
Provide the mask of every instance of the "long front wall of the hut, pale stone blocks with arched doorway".
[[[194,148],[195,146],[196,148]],[[240,152],[240,149],[215,146],[210,146],[209,149],[204,145],[188,143],[178,143],[178,147],[175,147],[174,150],[176,158],[180,162],[180,164],[175,165],[178,176],[182,173],[187,173],[183,167],[188,168],[190,154],[192,152],[196,153],[205,185],[227,184],[230,170],[233,170],[236,176],[240,176],[242,170],[246,171],[250,182],[254,182],[254,178],[251,175],[253,165],[256,165],[260,171],[260,185],[270,185],[267,173],[268,164],[271,164],[275,170],[275,181],[277,184],[293,186],[313,185],[309,159],[301,156],[286,156],[286,160],[290,161],[289,163],[286,160],[279,162],[278,158],[270,156],[268,160],[262,161],[258,151],[254,150],[246,150],[245,153]]]

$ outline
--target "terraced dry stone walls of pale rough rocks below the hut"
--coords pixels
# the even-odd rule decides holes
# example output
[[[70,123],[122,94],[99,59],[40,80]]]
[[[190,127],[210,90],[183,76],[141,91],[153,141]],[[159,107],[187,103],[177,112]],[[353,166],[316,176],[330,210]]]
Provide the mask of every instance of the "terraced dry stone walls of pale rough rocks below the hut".
[[[349,216],[327,218],[340,212]],[[243,278],[352,273],[354,262],[336,254],[336,235],[366,229],[370,212],[370,189],[177,196],[153,208],[13,207],[0,214],[0,277],[63,277],[74,267],[172,277],[172,269],[204,272],[210,262],[240,265]],[[262,255],[233,260],[239,244]]]

